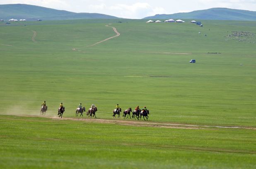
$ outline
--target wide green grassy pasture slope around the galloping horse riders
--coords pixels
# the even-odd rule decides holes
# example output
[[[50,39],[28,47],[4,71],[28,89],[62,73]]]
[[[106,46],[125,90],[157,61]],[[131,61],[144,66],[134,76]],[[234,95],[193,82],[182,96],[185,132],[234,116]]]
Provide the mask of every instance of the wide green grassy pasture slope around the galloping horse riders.
[[[255,169],[256,39],[225,36],[256,22],[120,21],[0,23],[1,168]],[[120,36],[90,46],[116,35],[109,23]],[[101,120],[117,103],[150,115],[82,121],[79,103]]]

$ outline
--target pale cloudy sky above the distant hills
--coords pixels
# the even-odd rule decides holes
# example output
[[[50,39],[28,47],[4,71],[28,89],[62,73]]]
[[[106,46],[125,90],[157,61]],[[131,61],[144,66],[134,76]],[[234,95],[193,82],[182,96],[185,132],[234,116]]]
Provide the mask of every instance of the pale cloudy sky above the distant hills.
[[[192,12],[213,7],[256,11],[256,0],[0,0],[0,5],[3,4],[37,5],[128,19],[142,19],[155,14]]]

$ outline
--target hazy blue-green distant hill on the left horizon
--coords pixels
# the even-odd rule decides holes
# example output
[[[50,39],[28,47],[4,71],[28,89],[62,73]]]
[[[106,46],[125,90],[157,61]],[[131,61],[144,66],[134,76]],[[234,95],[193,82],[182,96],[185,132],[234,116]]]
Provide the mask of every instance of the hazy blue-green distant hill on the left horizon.
[[[64,10],[26,4],[0,5],[0,19],[26,19],[27,21],[66,19],[117,19],[118,17],[97,13],[75,13]]]

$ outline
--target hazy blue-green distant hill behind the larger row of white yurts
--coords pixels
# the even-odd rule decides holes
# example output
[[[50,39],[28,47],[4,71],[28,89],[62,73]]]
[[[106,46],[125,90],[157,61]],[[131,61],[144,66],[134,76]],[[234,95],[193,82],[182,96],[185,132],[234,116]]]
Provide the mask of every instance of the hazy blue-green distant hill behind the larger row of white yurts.
[[[155,16],[148,16],[143,19],[213,19],[256,21],[256,12],[229,8],[211,8],[187,13],[157,14]]]

